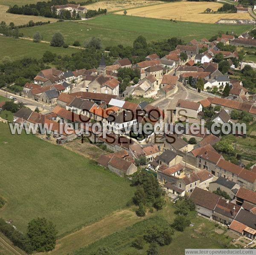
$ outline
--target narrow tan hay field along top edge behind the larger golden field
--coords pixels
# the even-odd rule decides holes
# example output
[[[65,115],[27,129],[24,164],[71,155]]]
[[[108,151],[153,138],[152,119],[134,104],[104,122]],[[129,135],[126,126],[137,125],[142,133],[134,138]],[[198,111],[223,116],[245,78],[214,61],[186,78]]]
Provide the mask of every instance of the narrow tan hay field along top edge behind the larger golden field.
[[[99,8],[107,9],[108,12],[118,11],[122,9],[129,9],[140,6],[148,6],[154,4],[163,3],[161,1],[155,0],[109,0],[109,1],[99,1],[97,3],[93,3],[90,5],[86,5],[85,7],[90,10],[98,10]],[[122,12],[123,13],[123,12]]]

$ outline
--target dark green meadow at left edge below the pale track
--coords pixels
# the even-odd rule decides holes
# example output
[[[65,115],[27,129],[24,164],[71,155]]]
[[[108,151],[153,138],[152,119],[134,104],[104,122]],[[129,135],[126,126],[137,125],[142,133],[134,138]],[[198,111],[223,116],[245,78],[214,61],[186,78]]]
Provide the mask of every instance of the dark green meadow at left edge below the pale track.
[[[65,55],[77,52],[79,49],[63,47],[52,47],[47,43],[34,43],[29,40],[16,39],[10,37],[0,36],[0,61],[5,56],[11,57],[13,60],[20,59],[21,57],[35,57],[41,58],[46,51],[54,52],[56,54]]]

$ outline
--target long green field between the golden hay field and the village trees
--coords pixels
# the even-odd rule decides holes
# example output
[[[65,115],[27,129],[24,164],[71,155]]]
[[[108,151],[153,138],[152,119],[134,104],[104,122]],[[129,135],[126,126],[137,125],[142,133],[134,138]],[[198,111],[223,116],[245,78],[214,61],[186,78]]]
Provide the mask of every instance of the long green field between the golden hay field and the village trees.
[[[51,40],[55,32],[61,32],[68,44],[79,40],[83,45],[84,41],[96,36],[102,40],[103,46],[117,44],[131,46],[139,35],[145,36],[148,41],[180,37],[188,42],[193,38],[212,37],[220,30],[241,34],[250,28],[252,28],[250,25],[233,26],[179,21],[173,23],[169,20],[108,14],[87,21],[57,22],[40,27],[23,28],[20,32],[24,37],[32,38],[36,31],[40,31],[44,40],[47,41]]]

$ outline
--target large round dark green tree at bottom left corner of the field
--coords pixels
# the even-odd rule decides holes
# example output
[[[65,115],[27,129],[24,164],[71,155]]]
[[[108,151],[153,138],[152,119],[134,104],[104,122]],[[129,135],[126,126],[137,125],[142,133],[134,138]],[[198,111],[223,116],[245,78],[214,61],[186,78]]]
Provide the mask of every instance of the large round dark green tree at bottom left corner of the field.
[[[55,225],[46,218],[36,218],[30,221],[27,235],[36,252],[49,252],[55,248],[57,231]]]

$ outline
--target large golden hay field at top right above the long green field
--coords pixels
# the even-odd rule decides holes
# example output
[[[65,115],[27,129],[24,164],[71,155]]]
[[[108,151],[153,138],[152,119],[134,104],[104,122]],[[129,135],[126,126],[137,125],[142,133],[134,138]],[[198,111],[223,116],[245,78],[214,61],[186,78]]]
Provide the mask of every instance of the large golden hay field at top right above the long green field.
[[[145,6],[127,11],[127,15],[150,17],[157,19],[175,19],[189,22],[215,23],[221,18],[252,19],[249,13],[203,14],[205,9],[216,11],[222,4],[212,2],[177,2],[161,5]],[[122,11],[116,14],[123,14]]]

